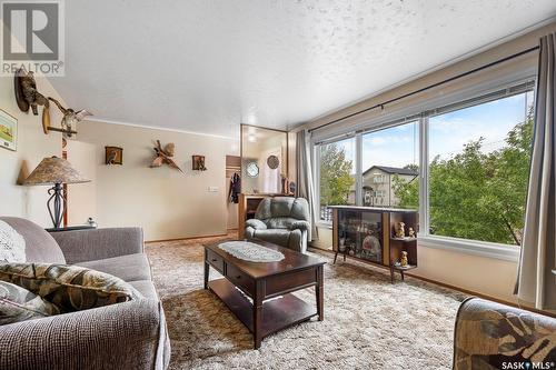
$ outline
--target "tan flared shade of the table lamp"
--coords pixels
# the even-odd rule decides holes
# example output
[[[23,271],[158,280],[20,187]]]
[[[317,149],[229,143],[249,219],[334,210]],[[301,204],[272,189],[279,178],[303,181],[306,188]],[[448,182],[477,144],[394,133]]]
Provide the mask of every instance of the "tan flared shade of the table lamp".
[[[81,183],[91,180],[83,177],[70,162],[62,158],[44,158],[23,181],[26,186],[46,186],[52,183]]]

